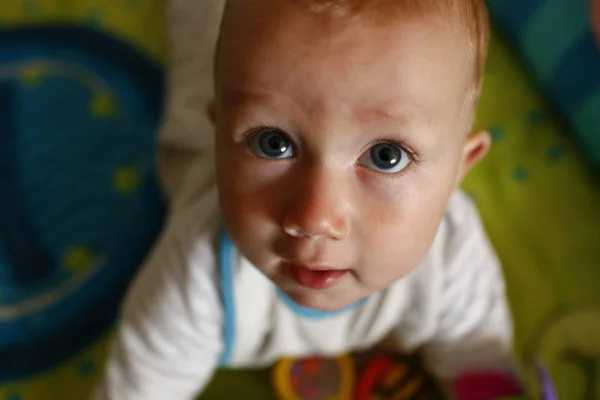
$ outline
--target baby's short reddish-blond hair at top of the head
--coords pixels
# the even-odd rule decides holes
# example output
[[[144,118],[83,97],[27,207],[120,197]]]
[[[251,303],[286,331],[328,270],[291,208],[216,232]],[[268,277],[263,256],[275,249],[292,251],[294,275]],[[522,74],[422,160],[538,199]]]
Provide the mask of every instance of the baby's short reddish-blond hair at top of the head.
[[[249,30],[259,29],[269,34],[272,26],[279,33],[287,31],[291,35],[298,20],[327,26],[330,31],[371,25],[383,35],[406,20],[412,24],[435,20],[439,29],[448,30],[464,43],[466,57],[475,67],[475,91],[480,87],[489,30],[483,0],[228,0],[221,37],[227,37],[230,51],[230,46],[235,48],[238,42],[244,42],[242,36]]]

